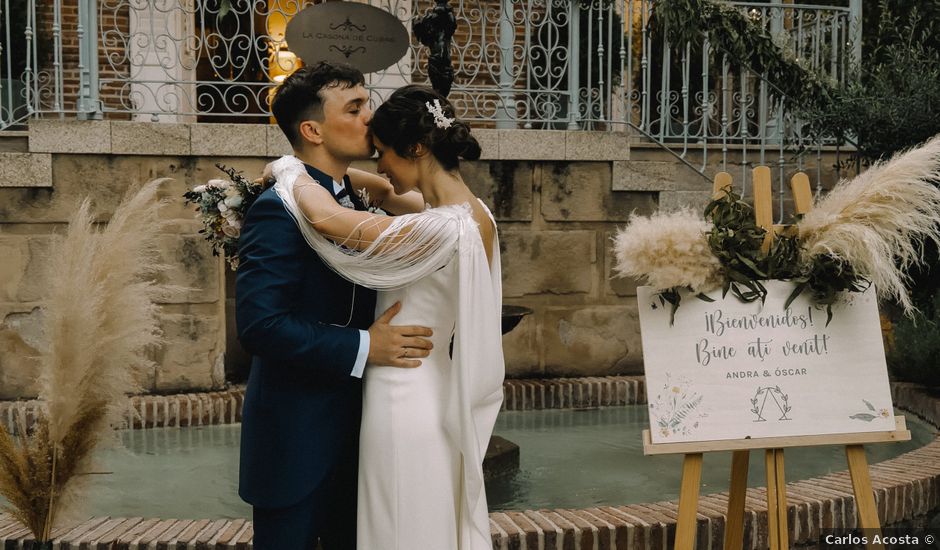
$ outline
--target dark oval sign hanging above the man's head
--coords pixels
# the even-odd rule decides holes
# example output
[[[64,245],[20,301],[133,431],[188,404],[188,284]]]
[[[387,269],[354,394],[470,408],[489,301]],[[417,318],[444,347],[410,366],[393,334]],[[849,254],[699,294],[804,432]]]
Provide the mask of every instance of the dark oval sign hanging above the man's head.
[[[408,31],[391,13],[358,2],[304,8],[287,24],[287,47],[304,63],[348,63],[363,73],[385,69],[405,55]]]

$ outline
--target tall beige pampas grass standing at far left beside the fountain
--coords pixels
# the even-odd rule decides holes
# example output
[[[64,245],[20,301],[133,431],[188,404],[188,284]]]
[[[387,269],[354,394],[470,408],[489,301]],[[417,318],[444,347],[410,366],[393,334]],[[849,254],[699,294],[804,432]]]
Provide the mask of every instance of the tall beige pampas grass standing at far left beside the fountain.
[[[39,357],[41,414],[31,433],[0,426],[0,494],[9,511],[45,540],[74,502],[96,444],[114,437],[138,372],[161,343],[156,302],[159,238],[166,227],[157,191],[130,192],[98,230],[86,199],[53,247],[45,302],[48,346]]]

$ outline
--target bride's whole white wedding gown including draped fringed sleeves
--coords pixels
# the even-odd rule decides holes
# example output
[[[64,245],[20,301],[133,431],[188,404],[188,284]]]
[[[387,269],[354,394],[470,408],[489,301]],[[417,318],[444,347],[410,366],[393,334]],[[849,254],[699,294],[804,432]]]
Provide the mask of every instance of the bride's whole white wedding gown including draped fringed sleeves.
[[[497,238],[487,262],[470,206],[445,206],[396,217],[351,254],[304,220],[293,197],[303,166],[291,158],[275,163],[275,189],[308,243],[337,273],[380,291],[377,313],[401,301],[394,324],[434,331],[420,367],[366,368],[357,547],[491,550],[482,465],[505,373]],[[407,238],[383,248],[402,229]]]

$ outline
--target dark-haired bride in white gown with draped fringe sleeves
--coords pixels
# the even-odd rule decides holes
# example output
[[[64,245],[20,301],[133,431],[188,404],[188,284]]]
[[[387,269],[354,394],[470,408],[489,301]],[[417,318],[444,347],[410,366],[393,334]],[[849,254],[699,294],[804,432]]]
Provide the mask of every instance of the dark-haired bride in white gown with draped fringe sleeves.
[[[370,123],[378,169],[419,214],[340,206],[295,157],[275,189],[307,242],[347,279],[395,302],[396,324],[434,331],[414,369],[367,367],[359,449],[360,550],[490,550],[483,456],[502,402],[504,363],[496,223],[464,184],[458,156],[479,158],[469,127],[423,86],[393,93]],[[451,351],[452,346],[452,351]]]

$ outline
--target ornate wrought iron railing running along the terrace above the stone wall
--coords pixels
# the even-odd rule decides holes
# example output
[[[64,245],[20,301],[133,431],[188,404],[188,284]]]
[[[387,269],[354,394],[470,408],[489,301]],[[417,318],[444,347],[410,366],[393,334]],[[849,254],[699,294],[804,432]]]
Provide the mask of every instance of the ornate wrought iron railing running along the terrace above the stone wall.
[[[861,0],[843,6],[730,2],[787,55],[842,82],[858,66]],[[368,0],[410,28],[431,0]],[[29,116],[266,121],[274,81],[294,68],[283,29],[311,0],[0,0],[6,33],[0,129]],[[805,150],[787,99],[705,41],[674,47],[651,0],[452,0],[451,100],[478,126],[633,129],[691,162],[720,145]],[[19,6],[19,9],[17,9]],[[425,48],[368,75],[377,101],[426,82]],[[774,153],[770,153],[774,151]],[[708,162],[707,153],[697,168]],[[714,160],[714,159],[713,159]],[[779,160],[779,159],[778,159]],[[789,162],[789,160],[787,161]]]

